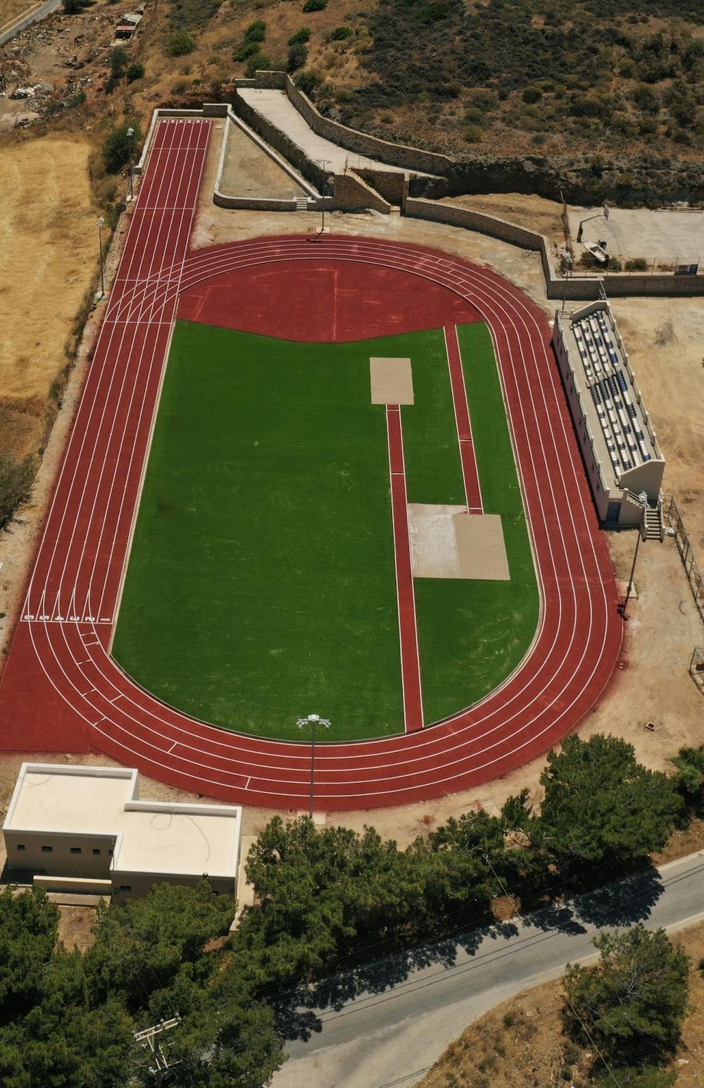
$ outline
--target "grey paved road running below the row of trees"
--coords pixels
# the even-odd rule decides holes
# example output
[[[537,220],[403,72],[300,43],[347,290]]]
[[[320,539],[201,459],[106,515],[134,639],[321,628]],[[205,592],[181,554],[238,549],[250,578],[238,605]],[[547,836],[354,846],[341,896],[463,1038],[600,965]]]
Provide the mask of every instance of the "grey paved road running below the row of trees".
[[[670,931],[704,919],[704,851],[525,923],[337,976],[316,993],[320,1029],[289,1043],[274,1088],[408,1088],[493,1005],[593,955],[598,929],[641,919]]]

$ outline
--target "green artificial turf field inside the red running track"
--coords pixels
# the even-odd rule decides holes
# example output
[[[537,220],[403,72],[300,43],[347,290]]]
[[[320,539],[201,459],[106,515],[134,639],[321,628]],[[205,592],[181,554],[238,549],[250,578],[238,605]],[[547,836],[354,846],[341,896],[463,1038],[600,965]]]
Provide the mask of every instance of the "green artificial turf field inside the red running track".
[[[538,597],[491,342],[460,339],[485,506],[511,582],[416,579],[426,720],[476,701],[527,648]],[[403,730],[385,409],[369,357],[410,357],[408,499],[462,503],[442,330],[299,344],[178,322],[113,654],[196,717],[302,739]],[[482,426],[475,421],[480,408]]]

